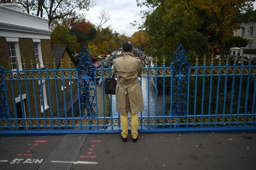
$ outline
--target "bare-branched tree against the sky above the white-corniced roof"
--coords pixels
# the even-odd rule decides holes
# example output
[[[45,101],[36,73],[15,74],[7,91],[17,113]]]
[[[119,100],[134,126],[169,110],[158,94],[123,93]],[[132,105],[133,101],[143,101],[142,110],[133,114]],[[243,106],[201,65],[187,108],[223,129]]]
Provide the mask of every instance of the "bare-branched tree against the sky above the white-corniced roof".
[[[62,20],[77,14],[79,11],[88,11],[93,6],[91,0],[18,0],[21,10],[32,15],[49,19],[49,26],[54,20]]]

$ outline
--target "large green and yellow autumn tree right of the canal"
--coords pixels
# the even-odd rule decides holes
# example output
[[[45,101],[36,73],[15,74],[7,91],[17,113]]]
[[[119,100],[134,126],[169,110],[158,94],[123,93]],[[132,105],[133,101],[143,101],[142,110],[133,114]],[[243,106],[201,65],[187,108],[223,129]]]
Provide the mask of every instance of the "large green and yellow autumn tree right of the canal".
[[[168,56],[168,64],[180,43],[190,59],[195,54],[223,54],[225,40],[253,10],[251,0],[137,0],[137,5],[149,8],[141,12],[144,22],[140,25],[151,44],[148,50],[160,58]]]

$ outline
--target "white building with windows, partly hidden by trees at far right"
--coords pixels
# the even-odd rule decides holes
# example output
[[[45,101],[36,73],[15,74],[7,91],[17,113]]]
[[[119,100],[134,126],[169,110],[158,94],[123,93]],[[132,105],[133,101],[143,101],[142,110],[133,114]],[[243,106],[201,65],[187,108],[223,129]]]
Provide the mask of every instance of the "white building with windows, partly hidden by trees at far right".
[[[234,36],[249,40],[245,49],[256,49],[256,22],[242,23],[241,27],[241,29],[234,32]]]

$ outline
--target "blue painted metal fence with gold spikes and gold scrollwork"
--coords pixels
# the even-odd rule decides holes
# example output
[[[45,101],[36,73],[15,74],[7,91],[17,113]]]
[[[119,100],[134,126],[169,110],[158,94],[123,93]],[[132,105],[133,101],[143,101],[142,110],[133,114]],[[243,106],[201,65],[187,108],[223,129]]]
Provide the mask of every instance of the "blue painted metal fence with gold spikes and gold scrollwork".
[[[138,113],[139,131],[255,131],[256,66],[250,62],[244,65],[243,58],[239,66],[236,65],[236,59],[232,65],[229,65],[230,61],[226,59],[224,66],[219,59],[219,64],[214,66],[213,57],[210,66],[206,66],[205,57],[203,66],[198,66],[197,58],[196,65],[191,66],[187,57],[188,53],[180,45],[170,66],[165,66],[164,60],[162,67],[158,67],[156,58],[154,67],[150,67],[148,62],[147,67],[143,68],[139,79],[140,82],[142,79],[148,82],[148,103],[144,103],[148,113]],[[32,64],[31,70],[27,70],[25,62],[23,70],[19,70],[18,65],[16,70],[5,70],[0,65],[0,133],[33,135],[120,132],[120,116],[113,116],[114,96],[108,95],[110,107],[105,106],[107,94],[104,94],[104,84],[97,85],[98,80],[104,82],[105,77],[111,76],[110,63],[108,68],[95,68],[92,55],[86,47],[78,59],[80,63],[75,69],[61,67],[57,70],[54,61],[53,69],[49,69],[46,63],[45,70],[34,70]],[[35,83],[37,81],[39,90]],[[64,81],[69,82],[69,89],[66,89]],[[154,82],[156,92],[154,115],[150,114],[150,81]],[[46,87],[43,86],[45,82]],[[78,88],[75,91],[72,88],[73,82]],[[159,88],[159,82],[162,89]],[[163,109],[160,112],[157,110],[159,90],[163,96],[170,96],[168,105],[163,97]],[[24,91],[26,100],[22,95]],[[18,113],[19,109],[17,110],[17,93],[21,102],[21,115]],[[70,100],[66,93],[70,94]],[[63,95],[64,113],[61,113],[59,108],[60,94]],[[44,98],[45,95],[47,98]],[[74,108],[74,95],[78,96],[79,109]],[[41,113],[38,109],[39,98]],[[99,101],[103,104],[103,109],[99,107]],[[70,108],[67,108],[68,102],[71,102]],[[45,103],[49,103],[49,106]],[[110,113],[106,112],[107,107]],[[170,108],[170,112],[166,113],[165,108]],[[102,113],[99,113],[99,109]],[[130,124],[130,118],[128,122]]]

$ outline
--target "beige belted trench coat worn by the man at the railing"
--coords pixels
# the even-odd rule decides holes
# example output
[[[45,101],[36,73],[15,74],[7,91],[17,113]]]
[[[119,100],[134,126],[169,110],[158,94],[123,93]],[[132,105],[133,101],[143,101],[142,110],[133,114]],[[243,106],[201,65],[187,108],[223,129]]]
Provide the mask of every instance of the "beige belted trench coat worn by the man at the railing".
[[[121,53],[113,61],[113,73],[117,76],[116,111],[125,114],[127,111],[138,113],[144,110],[142,88],[138,74],[142,72],[142,64],[138,57],[131,53]]]

